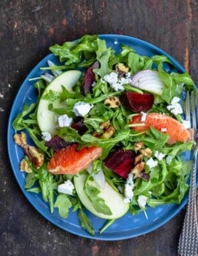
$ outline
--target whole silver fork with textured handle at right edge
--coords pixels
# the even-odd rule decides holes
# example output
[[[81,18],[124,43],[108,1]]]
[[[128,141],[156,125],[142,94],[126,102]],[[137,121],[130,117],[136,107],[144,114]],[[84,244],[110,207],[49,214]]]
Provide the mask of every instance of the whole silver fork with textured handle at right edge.
[[[186,99],[186,120],[191,121],[190,104],[192,108],[192,133],[195,141],[193,145],[193,168],[191,172],[191,183],[189,187],[189,201],[187,204],[187,212],[183,230],[179,239],[179,255],[196,256],[198,255],[198,226],[196,212],[196,169],[197,169],[197,152],[198,152],[198,127],[197,127],[197,94],[191,92],[191,100],[189,100],[189,92]]]

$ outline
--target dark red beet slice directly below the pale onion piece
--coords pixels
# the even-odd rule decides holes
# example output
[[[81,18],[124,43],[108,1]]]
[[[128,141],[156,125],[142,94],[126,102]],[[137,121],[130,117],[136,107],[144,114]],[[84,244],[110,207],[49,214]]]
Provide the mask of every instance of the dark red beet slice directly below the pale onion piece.
[[[154,104],[154,96],[152,94],[138,94],[137,92],[123,92],[119,96],[119,100],[123,106],[134,112],[146,112]]]

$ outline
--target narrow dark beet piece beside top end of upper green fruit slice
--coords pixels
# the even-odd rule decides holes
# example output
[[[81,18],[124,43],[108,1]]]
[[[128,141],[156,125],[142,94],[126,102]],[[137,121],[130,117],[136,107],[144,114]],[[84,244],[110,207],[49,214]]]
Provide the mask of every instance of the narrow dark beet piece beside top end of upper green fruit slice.
[[[85,96],[89,92],[92,92],[92,84],[95,82],[95,73],[93,73],[93,69],[99,68],[99,62],[95,61],[93,65],[88,67],[87,71],[85,72],[85,76],[83,79],[83,88],[82,88],[82,94]]]

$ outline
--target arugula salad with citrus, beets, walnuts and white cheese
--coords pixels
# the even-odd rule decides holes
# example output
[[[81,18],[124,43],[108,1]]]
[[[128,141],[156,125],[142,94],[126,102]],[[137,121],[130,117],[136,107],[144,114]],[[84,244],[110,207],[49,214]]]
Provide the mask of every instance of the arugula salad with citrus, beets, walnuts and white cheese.
[[[195,90],[190,75],[164,55],[124,44],[115,54],[97,35],[50,51],[58,65],[49,60],[32,77],[37,100],[13,121],[26,191],[41,193],[62,218],[77,211],[92,236],[86,210],[107,220],[104,232],[128,212],[148,218],[147,207],[181,203],[191,171],[182,153],[193,146],[183,113]]]

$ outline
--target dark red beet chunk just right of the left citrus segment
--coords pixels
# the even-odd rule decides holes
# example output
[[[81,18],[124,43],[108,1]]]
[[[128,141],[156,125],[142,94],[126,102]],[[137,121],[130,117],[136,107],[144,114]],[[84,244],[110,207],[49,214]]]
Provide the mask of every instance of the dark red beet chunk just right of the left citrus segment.
[[[136,153],[133,150],[115,150],[105,159],[105,166],[113,170],[117,175],[126,179],[134,168]]]

